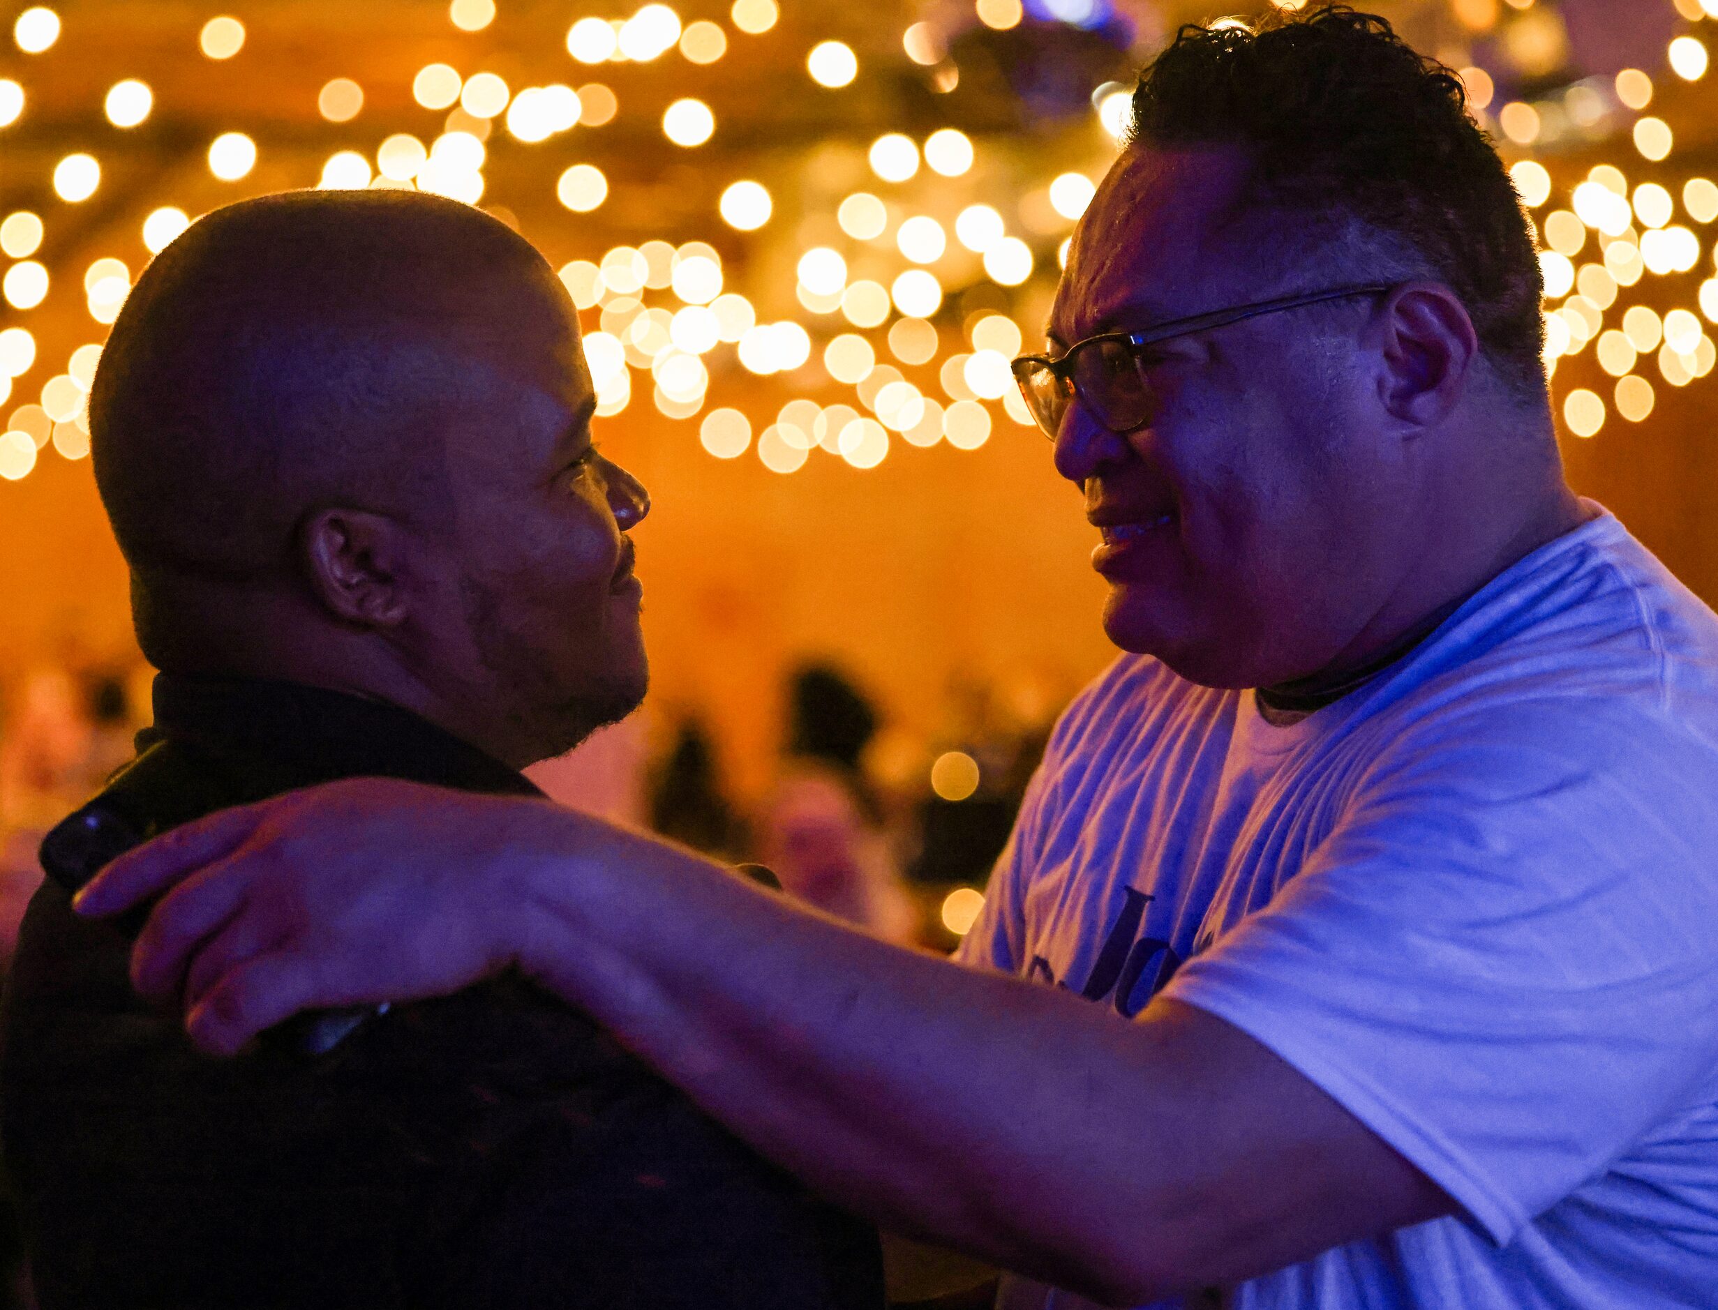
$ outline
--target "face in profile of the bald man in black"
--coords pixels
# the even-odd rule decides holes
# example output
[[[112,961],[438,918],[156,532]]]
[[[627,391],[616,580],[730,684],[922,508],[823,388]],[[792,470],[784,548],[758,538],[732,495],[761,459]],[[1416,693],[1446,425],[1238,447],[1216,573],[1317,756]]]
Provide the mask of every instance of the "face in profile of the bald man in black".
[[[455,664],[472,704],[546,759],[644,697],[625,532],[649,501],[593,446],[577,318],[553,275],[538,282],[484,292],[484,331],[462,333],[460,414],[445,441],[455,522],[442,567],[454,584],[423,658]]]

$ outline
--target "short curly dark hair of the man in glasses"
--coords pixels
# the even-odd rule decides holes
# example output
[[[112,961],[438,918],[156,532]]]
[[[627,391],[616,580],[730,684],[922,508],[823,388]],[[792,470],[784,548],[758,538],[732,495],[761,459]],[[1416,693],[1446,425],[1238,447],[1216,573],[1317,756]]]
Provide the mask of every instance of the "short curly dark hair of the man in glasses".
[[[1532,225],[1462,81],[1385,19],[1326,5],[1252,29],[1185,26],[1139,77],[1129,141],[1240,146],[1244,208],[1290,216],[1302,240],[1356,221],[1381,235],[1395,271],[1460,297],[1505,383],[1544,395]]]

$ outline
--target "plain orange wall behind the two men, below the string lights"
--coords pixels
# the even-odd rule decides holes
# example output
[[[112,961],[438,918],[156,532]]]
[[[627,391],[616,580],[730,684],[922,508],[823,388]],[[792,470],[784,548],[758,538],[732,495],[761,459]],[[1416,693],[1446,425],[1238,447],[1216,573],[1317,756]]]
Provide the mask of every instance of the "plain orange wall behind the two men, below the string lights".
[[[1711,601],[1718,397],[1658,391],[1646,424],[1611,415],[1591,441],[1565,438],[1570,477]],[[1079,494],[1024,428],[998,424],[978,452],[897,446],[868,472],[819,453],[787,477],[715,460],[696,422],[641,405],[603,428],[655,500],[637,543],[658,721],[708,713],[742,790],[768,776],[795,658],[838,658],[929,738],[955,678],[1063,695],[1112,654]],[[0,682],[41,658],[129,658],[124,565],[88,462],[0,482]]]

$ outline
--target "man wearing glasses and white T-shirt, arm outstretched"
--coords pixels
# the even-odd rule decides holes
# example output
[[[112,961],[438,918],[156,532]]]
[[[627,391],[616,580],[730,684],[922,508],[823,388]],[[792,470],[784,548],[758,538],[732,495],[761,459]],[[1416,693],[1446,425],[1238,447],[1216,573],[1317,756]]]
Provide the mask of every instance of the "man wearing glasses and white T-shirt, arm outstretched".
[[[172,888],[134,975],[213,1051],[524,968],[1010,1310],[1709,1305],[1718,622],[1563,484],[1503,165],[1347,10],[1189,29],[1134,112],[1015,364],[1127,654],[978,968],[383,783],[81,908]]]

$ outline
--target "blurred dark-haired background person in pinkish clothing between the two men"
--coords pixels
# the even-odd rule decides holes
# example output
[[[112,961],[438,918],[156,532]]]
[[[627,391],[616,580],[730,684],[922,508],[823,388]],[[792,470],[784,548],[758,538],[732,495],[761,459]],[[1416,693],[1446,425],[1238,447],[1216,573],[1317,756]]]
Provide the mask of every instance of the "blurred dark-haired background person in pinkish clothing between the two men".
[[[789,676],[787,742],[758,858],[795,900],[907,944],[919,936],[919,912],[864,771],[876,730],[876,709],[840,670],[806,664]]]

